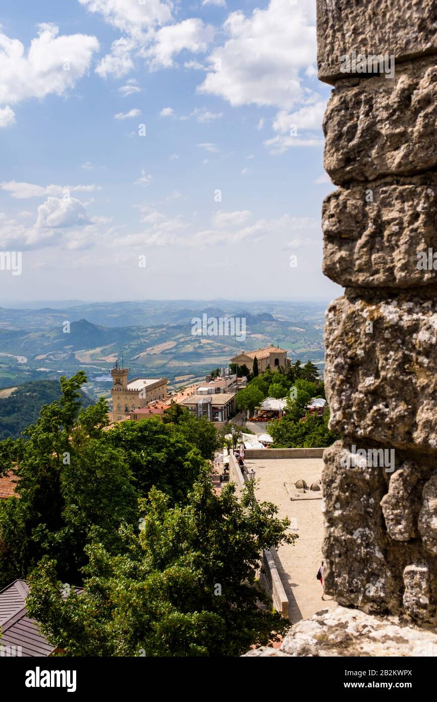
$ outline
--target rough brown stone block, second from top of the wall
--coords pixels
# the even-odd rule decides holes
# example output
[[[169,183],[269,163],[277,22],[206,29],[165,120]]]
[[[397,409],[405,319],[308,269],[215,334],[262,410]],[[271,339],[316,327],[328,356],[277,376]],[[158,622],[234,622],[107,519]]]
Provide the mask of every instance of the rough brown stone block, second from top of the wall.
[[[401,65],[393,79],[343,79],[323,120],[332,183],[422,173],[437,166],[437,57]]]

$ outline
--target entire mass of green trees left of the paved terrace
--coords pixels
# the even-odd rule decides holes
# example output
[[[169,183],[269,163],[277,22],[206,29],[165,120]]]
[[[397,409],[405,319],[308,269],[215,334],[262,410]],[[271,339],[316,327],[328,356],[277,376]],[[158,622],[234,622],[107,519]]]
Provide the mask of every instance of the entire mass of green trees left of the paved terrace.
[[[213,425],[171,407],[108,430],[62,377],[25,437],[0,442],[0,588],[27,578],[29,616],[72,656],[236,656],[288,628],[257,583],[263,548],[294,543],[253,485],[215,494]],[[183,408],[182,408],[183,409]],[[66,585],[74,588],[63,600]],[[266,609],[258,604],[264,602]]]

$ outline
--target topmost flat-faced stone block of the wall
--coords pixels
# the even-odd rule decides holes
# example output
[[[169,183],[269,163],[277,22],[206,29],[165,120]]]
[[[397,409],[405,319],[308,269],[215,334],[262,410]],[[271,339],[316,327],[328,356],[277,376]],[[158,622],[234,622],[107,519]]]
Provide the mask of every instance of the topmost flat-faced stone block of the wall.
[[[340,57],[351,51],[393,54],[396,62],[437,52],[433,0],[317,0],[318,77],[344,77]]]

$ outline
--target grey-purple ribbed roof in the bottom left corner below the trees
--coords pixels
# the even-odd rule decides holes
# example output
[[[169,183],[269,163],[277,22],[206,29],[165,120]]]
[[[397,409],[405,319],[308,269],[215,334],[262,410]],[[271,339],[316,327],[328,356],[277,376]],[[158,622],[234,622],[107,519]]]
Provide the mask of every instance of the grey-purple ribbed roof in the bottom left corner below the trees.
[[[81,592],[83,588],[75,589]],[[50,656],[55,651],[39,632],[38,622],[27,616],[28,593],[29,585],[24,580],[16,580],[0,591],[0,647],[6,648],[6,656],[32,658]]]

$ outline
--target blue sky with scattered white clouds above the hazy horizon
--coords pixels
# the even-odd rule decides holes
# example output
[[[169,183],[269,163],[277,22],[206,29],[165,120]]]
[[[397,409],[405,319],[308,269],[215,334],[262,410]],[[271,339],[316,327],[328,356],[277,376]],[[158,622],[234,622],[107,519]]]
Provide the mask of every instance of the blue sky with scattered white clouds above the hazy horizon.
[[[0,24],[2,304],[340,293],[315,1],[3,0]]]

